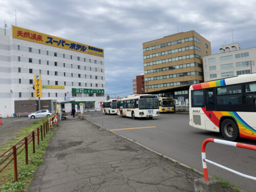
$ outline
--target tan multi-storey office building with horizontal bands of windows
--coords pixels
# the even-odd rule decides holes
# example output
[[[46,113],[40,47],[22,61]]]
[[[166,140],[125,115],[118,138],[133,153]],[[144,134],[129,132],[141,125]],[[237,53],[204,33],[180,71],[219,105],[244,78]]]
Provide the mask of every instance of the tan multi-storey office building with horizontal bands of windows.
[[[173,97],[188,106],[191,84],[203,82],[202,57],[210,42],[196,31],[181,32],[143,43],[145,92]]]

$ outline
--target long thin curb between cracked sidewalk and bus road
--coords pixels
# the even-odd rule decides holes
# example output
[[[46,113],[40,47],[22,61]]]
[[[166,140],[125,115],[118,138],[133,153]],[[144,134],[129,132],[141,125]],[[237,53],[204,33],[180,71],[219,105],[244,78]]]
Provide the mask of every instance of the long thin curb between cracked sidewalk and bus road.
[[[184,164],[184,163],[181,163],[181,162],[179,162],[179,161],[177,161],[177,160],[175,160],[175,159],[173,159],[173,158],[170,158],[170,157],[165,156],[165,155],[163,155],[163,154],[161,154],[161,153],[158,153],[158,152],[152,150],[151,148],[148,148],[148,147],[145,146],[145,145],[142,145],[142,144],[140,144],[140,143],[138,143],[138,142],[136,142],[136,141],[133,141],[132,139],[129,139],[129,138],[127,138],[127,137],[124,137],[124,136],[122,136],[122,135],[119,135],[118,133],[115,133],[115,132],[113,132],[113,131],[110,131],[110,130],[108,130],[108,129],[105,129],[104,127],[101,127],[101,126],[98,125],[97,123],[95,123],[95,122],[93,122],[93,121],[91,121],[91,120],[89,120],[89,119],[87,119],[87,118],[86,118],[86,120],[89,121],[89,122],[91,122],[91,123],[93,123],[93,124],[95,124],[96,126],[100,127],[99,131],[103,131],[103,130],[104,130],[104,131],[109,131],[109,132],[111,132],[111,133],[114,133],[114,134],[116,134],[116,135],[118,135],[118,136],[120,136],[120,137],[122,137],[122,138],[124,138],[124,139],[127,139],[127,140],[129,140],[129,141],[131,141],[131,142],[133,142],[133,143],[136,143],[136,144],[139,145],[139,146],[142,146],[142,147],[145,148],[146,150],[149,150],[149,151],[151,151],[151,152],[153,152],[153,153],[155,153],[155,154],[157,154],[157,155],[159,155],[159,156],[162,156],[162,157],[164,157],[165,159],[168,159],[168,160],[170,160],[170,161],[173,161],[174,163],[175,163],[175,162],[178,162],[179,165],[190,169],[190,166],[188,166],[188,165],[186,165],[186,164]],[[204,175],[202,172],[200,172],[199,170],[197,170],[197,169],[195,169],[195,168],[193,168],[193,171],[195,171],[195,172],[197,172],[197,173],[199,173],[199,174],[201,174],[201,175]]]

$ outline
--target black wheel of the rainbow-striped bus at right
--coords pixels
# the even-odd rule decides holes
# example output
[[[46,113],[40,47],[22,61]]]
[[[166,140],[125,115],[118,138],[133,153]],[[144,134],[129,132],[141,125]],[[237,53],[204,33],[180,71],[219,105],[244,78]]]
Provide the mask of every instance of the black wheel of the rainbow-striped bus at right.
[[[231,119],[225,119],[221,123],[221,133],[228,141],[234,141],[238,138],[238,127]]]

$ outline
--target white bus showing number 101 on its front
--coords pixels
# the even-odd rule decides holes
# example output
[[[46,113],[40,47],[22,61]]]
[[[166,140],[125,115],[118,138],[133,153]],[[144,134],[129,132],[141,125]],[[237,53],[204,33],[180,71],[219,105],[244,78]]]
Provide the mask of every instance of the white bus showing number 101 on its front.
[[[129,95],[117,100],[117,115],[121,117],[159,117],[157,95]]]

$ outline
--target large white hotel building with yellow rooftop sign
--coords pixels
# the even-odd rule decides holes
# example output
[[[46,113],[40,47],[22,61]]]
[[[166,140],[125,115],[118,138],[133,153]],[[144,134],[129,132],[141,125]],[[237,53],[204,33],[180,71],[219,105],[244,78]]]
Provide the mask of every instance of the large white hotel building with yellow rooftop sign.
[[[74,98],[62,104],[66,112],[79,103],[95,111],[105,99],[103,49],[16,26],[0,29],[0,117],[38,110],[35,74],[41,75],[41,109],[54,111],[57,102]]]

